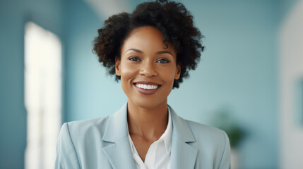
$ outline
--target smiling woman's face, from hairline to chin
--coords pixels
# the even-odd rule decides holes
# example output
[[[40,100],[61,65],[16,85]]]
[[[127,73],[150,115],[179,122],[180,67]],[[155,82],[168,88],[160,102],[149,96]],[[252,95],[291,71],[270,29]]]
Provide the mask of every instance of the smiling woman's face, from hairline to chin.
[[[155,27],[138,27],[121,46],[121,59],[116,59],[116,74],[128,101],[141,108],[167,104],[174,79],[179,79],[180,66],[172,44]]]

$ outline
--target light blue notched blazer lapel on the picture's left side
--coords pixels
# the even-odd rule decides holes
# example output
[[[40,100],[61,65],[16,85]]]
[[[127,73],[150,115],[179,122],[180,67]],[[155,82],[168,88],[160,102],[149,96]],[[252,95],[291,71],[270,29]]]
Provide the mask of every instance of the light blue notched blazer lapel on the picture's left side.
[[[112,168],[135,168],[127,126],[127,103],[109,116],[102,141],[109,146],[102,148]]]

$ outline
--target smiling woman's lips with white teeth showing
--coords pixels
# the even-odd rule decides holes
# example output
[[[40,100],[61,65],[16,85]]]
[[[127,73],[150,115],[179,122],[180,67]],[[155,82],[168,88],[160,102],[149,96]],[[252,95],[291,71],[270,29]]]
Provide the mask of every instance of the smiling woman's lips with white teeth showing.
[[[155,82],[134,82],[133,85],[136,87],[138,92],[145,95],[154,94],[158,91],[160,84]]]

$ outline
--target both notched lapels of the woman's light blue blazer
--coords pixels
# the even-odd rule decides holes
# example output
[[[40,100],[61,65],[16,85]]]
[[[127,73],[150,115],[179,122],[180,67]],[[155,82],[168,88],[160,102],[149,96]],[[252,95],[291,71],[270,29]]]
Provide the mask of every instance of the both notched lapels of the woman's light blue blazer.
[[[198,149],[189,145],[196,142],[186,120],[180,118],[169,106],[172,117],[172,168],[194,168]],[[110,142],[102,148],[113,168],[135,168],[128,138],[127,103],[109,116],[102,140]]]

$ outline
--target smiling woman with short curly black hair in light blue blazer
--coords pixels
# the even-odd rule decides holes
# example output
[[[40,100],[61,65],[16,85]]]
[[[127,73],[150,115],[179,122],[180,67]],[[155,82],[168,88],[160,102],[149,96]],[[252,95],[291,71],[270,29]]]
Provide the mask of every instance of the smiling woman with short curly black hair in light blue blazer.
[[[203,51],[192,18],[180,3],[155,1],[105,21],[94,51],[127,103],[105,118],[64,123],[55,168],[230,168],[225,132],[167,106]]]

